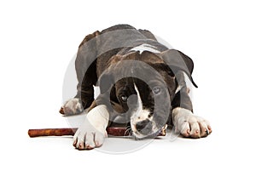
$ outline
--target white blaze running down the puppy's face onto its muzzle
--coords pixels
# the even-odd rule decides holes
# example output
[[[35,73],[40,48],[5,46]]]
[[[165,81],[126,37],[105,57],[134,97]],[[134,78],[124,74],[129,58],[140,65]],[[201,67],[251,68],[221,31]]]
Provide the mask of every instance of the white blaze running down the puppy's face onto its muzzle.
[[[153,117],[148,117],[148,115],[150,114],[150,111],[143,110],[143,101],[141,99],[140,93],[135,83],[134,83],[134,87],[137,92],[137,110],[131,114],[131,129],[134,132],[134,134],[137,135],[137,129],[136,129],[137,122],[142,122],[143,120],[146,120],[146,119],[148,119],[151,122]]]

